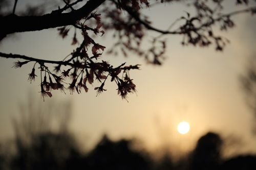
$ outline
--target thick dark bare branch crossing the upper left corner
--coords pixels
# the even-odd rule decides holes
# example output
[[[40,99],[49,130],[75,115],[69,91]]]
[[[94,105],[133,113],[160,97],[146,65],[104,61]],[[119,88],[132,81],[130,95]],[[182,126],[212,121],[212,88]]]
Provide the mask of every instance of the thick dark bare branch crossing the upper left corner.
[[[42,16],[8,15],[0,17],[0,40],[7,34],[26,31],[39,31],[49,28],[74,25],[76,21],[87,17],[105,0],[91,0],[78,10],[69,13],[60,13],[58,10]]]

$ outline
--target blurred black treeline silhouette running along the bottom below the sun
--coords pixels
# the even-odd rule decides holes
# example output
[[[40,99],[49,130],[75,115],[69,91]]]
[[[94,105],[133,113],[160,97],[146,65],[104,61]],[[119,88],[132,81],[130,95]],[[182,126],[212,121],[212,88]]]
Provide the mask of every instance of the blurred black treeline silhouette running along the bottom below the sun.
[[[23,128],[23,127],[20,127]],[[255,155],[238,155],[223,159],[220,155],[223,140],[216,133],[202,136],[193,152],[173,162],[169,155],[152,159],[144,150],[134,149],[135,140],[113,141],[103,135],[88,153],[82,153],[71,133],[37,132],[30,143],[16,142],[17,152],[7,156],[0,145],[1,169],[243,169],[256,168]],[[16,138],[19,138],[16,136]],[[10,152],[10,151],[9,151]],[[153,153],[154,154],[154,153]]]

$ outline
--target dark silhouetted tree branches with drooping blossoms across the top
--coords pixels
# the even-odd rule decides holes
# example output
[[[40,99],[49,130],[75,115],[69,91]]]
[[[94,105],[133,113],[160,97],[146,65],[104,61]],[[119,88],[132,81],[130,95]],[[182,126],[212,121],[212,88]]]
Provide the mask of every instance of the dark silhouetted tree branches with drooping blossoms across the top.
[[[170,23],[168,29],[153,27],[150,18],[143,14],[141,9],[154,8],[161,3],[172,5],[183,2],[196,9],[193,16],[184,12],[184,16]],[[56,1],[58,8],[52,11],[44,11],[45,6],[30,7],[27,12],[16,14],[18,1],[0,1],[0,40],[4,43],[8,35],[20,32],[40,31],[57,28],[59,35],[66,38],[71,30],[74,30],[72,45],[77,47],[68,56],[61,60],[45,60],[25,56],[22,54],[6,54],[0,52],[0,57],[22,59],[14,62],[13,67],[19,68],[33,62],[34,66],[28,80],[32,82],[40,77],[41,97],[52,96],[52,90],[70,93],[88,91],[87,84],[93,84],[98,80],[101,84],[95,87],[97,94],[105,91],[104,85],[107,79],[115,82],[118,94],[126,99],[127,94],[136,91],[136,85],[130,78],[131,69],[139,69],[139,65],[125,65],[114,67],[104,61],[103,52],[105,46],[96,42],[95,36],[104,36],[106,32],[114,32],[113,46],[108,53],[121,52],[127,56],[127,52],[133,52],[142,56],[148,63],[161,65],[165,56],[166,43],[163,37],[180,35],[183,37],[182,45],[209,46],[214,45],[216,51],[222,51],[228,40],[217,34],[216,26],[221,30],[234,27],[233,15],[240,13],[256,13],[256,7],[249,6],[253,1],[234,1],[241,6],[241,10],[225,13],[223,3],[225,0],[62,0]],[[254,1],[255,2],[255,1]],[[53,2],[51,2],[53,3]],[[13,5],[8,13],[5,7]],[[150,40],[151,45],[144,49],[142,41],[149,40],[148,31],[159,35]],[[78,34],[82,42],[78,42]],[[100,60],[101,61],[100,61]],[[52,65],[52,67],[50,67]],[[36,70],[38,68],[38,70]],[[51,69],[52,68],[52,69]],[[38,71],[38,72],[37,72]],[[65,78],[71,77],[71,82]]]

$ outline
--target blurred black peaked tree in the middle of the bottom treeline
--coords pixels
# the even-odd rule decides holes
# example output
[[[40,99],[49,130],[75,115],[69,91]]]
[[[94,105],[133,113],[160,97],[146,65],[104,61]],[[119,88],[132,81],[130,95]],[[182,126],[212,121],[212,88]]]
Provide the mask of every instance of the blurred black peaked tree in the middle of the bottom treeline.
[[[89,169],[151,169],[150,159],[142,152],[134,151],[132,140],[112,141],[104,135],[88,154]]]

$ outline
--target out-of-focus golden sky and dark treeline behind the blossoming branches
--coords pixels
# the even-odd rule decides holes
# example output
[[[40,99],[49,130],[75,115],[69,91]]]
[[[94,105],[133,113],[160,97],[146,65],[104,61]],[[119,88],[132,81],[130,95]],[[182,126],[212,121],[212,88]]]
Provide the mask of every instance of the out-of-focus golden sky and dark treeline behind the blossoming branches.
[[[42,2],[18,1],[17,10]],[[225,13],[240,9],[235,4],[228,1]],[[143,9],[162,29],[184,11],[194,12],[182,3]],[[0,58],[0,169],[225,169],[239,161],[255,167],[255,19],[234,16],[236,27],[220,33],[230,40],[223,52],[182,46],[182,37],[166,36],[161,66],[132,53],[103,55],[114,66],[141,64],[130,71],[137,93],[129,102],[110,81],[97,97],[95,84],[84,94],[54,91],[43,102],[39,81],[27,81],[33,64],[14,69],[16,60]],[[71,40],[57,29],[16,33],[1,42],[0,51],[61,60],[73,51]],[[96,41],[107,51],[112,34]],[[190,125],[184,135],[177,131],[182,121]]]

